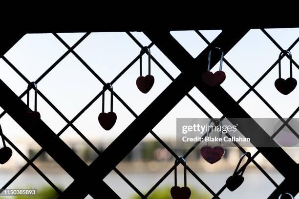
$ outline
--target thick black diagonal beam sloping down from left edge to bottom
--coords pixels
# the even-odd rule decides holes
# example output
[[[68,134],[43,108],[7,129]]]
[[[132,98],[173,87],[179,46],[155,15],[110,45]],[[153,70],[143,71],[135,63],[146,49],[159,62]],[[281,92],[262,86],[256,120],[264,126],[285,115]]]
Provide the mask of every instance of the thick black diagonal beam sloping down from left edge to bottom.
[[[0,106],[14,119],[64,170],[73,178],[79,178],[83,171],[88,169],[85,162],[69,148],[41,119],[34,123],[34,128],[28,126],[23,114],[27,112],[27,105],[0,80],[1,94]],[[102,180],[101,187],[110,196],[119,198],[114,191]],[[100,193],[90,193],[92,197],[99,198]]]

